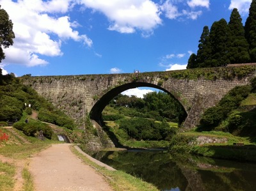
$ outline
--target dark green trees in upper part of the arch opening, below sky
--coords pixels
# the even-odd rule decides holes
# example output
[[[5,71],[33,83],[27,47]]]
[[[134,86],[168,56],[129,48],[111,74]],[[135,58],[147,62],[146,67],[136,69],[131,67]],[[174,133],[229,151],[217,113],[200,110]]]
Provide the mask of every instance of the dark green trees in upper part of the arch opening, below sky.
[[[161,91],[148,93],[144,98],[120,94],[109,103],[109,106],[115,108],[118,112],[114,116],[108,117],[108,112],[104,111],[104,120],[112,117],[119,118],[120,114],[131,118],[151,118],[157,121],[166,119],[166,121],[177,123],[182,123],[186,118],[186,111],[184,111],[182,105],[175,98]]]

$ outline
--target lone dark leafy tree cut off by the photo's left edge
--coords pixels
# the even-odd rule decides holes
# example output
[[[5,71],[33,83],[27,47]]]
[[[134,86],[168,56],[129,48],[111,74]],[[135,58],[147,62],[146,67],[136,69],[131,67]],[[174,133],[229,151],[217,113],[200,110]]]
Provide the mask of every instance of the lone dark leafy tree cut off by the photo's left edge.
[[[6,49],[10,45],[13,45],[13,38],[15,35],[12,31],[13,23],[9,19],[8,13],[1,9],[0,5],[0,63],[4,59],[3,48]]]

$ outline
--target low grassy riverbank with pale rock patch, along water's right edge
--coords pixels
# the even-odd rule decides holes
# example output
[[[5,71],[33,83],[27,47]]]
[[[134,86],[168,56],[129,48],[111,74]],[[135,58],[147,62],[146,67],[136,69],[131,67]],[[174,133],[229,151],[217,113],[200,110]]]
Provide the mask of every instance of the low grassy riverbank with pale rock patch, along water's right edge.
[[[248,137],[224,132],[183,132],[173,137],[169,151],[204,157],[256,162],[256,146]]]

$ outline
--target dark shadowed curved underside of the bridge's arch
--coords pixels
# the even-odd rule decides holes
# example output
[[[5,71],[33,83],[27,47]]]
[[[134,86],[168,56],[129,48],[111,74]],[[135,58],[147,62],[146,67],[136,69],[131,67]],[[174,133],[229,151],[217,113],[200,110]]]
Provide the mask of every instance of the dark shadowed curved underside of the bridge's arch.
[[[173,98],[175,98],[175,100],[177,100],[179,102],[179,100],[174,95],[172,95],[172,93],[170,93],[169,91],[167,91],[164,88],[161,88],[160,86],[157,86],[155,84],[150,84],[150,83],[147,83],[147,82],[131,82],[131,83],[123,84],[123,85],[120,85],[116,88],[113,88],[113,89],[109,90],[106,94],[104,94],[93,105],[92,110],[90,111],[90,118],[95,120],[95,121],[100,121],[100,119],[102,118],[102,111],[104,110],[106,105],[108,105],[108,103],[113,98],[115,98],[116,95],[122,93],[123,91],[125,91],[127,89],[140,88],[140,87],[149,87],[149,88],[160,89],[160,90],[168,93],[168,95],[172,96]],[[182,106],[182,109],[184,109],[184,105],[182,105],[181,102],[179,102],[179,103]],[[184,109],[184,111],[186,112],[185,109]],[[188,114],[188,113],[186,112],[186,114]]]

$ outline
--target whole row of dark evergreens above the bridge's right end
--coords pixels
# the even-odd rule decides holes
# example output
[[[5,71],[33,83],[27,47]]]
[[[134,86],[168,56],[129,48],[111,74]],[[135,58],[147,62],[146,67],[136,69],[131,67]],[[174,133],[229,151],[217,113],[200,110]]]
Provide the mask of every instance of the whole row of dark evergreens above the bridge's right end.
[[[245,25],[234,8],[230,21],[221,19],[205,26],[197,54],[191,54],[187,68],[226,66],[256,62],[256,0],[252,1]]]

